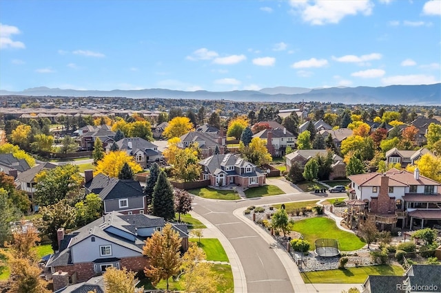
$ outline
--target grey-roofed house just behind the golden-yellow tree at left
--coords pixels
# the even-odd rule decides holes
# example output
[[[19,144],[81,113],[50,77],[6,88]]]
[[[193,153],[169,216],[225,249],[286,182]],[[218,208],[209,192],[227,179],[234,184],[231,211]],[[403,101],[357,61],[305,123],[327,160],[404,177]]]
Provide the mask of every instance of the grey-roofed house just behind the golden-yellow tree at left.
[[[135,162],[144,169],[149,168],[150,164],[161,160],[163,156],[161,151],[158,151],[158,146],[143,138],[123,138],[114,143],[120,151],[127,151],[127,154],[132,155]],[[110,151],[111,146],[112,144],[105,146],[106,153]]]

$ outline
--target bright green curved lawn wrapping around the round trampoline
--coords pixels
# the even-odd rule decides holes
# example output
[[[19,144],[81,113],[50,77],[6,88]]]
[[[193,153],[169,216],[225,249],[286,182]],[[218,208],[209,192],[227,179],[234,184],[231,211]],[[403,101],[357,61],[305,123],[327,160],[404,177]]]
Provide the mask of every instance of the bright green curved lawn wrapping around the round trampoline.
[[[296,221],[293,230],[302,233],[305,240],[311,243],[311,250],[314,249],[314,241],[320,238],[338,239],[342,251],[358,250],[365,246],[365,242],[356,235],[340,230],[334,220],[325,217]]]

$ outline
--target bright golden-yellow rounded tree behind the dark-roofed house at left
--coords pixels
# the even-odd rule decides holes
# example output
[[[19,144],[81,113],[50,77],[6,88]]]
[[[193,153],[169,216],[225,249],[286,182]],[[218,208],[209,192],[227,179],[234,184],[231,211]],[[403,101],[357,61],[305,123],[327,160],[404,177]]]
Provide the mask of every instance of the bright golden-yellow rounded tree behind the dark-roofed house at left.
[[[96,164],[94,174],[103,173],[110,177],[118,177],[119,172],[123,169],[124,163],[129,164],[134,174],[143,171],[141,166],[134,161],[131,155],[125,151],[111,151],[107,153],[103,160]]]

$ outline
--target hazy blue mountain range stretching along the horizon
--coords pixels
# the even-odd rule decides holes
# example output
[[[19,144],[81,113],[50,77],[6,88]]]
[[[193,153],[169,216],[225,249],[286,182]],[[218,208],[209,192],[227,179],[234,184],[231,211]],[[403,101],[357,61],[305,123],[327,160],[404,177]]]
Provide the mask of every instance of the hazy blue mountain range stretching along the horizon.
[[[175,91],[171,89],[139,89],[81,91],[34,87],[24,91],[0,90],[0,96],[71,96],[125,98],[183,98],[198,100],[235,100],[243,102],[342,102],[344,104],[440,105],[441,83],[434,85],[390,85],[387,87],[274,87],[260,91]]]

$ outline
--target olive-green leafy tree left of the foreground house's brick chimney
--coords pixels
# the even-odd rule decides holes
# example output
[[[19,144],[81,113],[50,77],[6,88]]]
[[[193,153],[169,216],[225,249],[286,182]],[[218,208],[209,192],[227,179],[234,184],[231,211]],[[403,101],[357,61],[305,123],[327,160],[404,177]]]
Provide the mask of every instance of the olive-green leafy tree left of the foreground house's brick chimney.
[[[47,235],[52,242],[52,249],[58,250],[57,230],[59,228],[73,228],[76,219],[76,210],[65,200],[50,206],[42,206],[39,210],[41,217],[34,219],[41,235]]]

